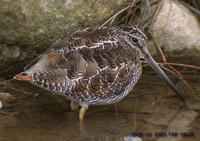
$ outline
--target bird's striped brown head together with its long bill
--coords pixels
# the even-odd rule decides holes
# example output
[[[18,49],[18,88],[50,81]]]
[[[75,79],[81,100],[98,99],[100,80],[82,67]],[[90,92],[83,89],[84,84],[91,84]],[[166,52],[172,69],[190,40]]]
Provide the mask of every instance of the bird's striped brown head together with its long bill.
[[[136,54],[145,59],[145,61],[154,69],[154,71],[168,84],[168,86],[175,92],[175,94],[181,99],[185,100],[184,97],[180,94],[180,92],[176,89],[175,85],[172,81],[167,77],[164,71],[158,66],[153,57],[148,51],[147,37],[142,32],[141,29],[132,26],[123,28],[122,33],[125,35],[124,40],[126,44],[131,46]]]

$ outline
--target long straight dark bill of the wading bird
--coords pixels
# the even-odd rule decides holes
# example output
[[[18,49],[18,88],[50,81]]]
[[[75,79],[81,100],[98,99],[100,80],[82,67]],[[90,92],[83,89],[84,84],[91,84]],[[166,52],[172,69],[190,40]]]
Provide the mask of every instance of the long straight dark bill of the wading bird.
[[[175,92],[175,94],[181,99],[185,100],[183,95],[176,89],[172,81],[167,77],[164,71],[157,65],[155,60],[150,55],[149,51],[146,48],[143,48],[143,54],[145,55],[145,59],[147,63],[154,69],[154,71],[167,83],[167,85]]]

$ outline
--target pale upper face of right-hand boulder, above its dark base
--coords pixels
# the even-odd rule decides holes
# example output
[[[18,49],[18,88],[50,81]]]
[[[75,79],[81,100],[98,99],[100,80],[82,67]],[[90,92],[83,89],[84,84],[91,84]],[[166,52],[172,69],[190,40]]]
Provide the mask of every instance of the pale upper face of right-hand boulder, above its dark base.
[[[164,0],[152,26],[154,38],[170,50],[200,49],[200,24],[195,15],[177,1]]]

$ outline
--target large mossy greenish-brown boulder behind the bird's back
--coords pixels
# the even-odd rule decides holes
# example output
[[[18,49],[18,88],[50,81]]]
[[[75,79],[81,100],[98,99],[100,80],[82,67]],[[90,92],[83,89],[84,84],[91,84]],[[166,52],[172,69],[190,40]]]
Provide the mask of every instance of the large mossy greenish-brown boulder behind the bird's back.
[[[96,26],[126,0],[1,0],[0,76],[19,71],[67,33]]]

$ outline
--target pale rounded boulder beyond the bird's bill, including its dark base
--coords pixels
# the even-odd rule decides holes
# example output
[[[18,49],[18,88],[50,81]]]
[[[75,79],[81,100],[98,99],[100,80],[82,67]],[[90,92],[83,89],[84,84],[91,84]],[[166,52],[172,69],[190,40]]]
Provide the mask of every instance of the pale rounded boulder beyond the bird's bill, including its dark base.
[[[200,23],[176,0],[163,0],[150,30],[171,60],[200,65]]]

